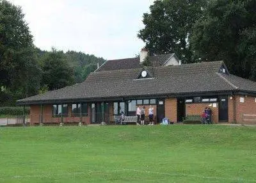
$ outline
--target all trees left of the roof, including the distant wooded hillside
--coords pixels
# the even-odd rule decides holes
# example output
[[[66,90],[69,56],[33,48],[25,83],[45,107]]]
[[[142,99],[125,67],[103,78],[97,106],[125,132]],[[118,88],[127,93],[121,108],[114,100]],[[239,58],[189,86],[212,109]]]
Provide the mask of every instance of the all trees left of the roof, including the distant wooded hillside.
[[[0,1],[0,106],[81,83],[104,61],[83,52],[36,48],[21,8]]]

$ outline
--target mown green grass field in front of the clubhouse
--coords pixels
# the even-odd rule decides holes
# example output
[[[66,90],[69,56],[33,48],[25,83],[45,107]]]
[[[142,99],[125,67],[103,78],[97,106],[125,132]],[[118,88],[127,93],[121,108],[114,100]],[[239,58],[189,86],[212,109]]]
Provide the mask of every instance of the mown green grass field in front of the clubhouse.
[[[256,182],[256,127],[0,127],[0,182]]]

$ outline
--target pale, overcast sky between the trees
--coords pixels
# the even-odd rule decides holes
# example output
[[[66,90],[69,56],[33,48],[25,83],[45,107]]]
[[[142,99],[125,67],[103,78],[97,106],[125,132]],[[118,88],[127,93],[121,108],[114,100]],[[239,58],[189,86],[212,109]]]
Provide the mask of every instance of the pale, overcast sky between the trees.
[[[34,44],[42,50],[81,51],[107,60],[131,58],[154,0],[9,0],[21,6]]]

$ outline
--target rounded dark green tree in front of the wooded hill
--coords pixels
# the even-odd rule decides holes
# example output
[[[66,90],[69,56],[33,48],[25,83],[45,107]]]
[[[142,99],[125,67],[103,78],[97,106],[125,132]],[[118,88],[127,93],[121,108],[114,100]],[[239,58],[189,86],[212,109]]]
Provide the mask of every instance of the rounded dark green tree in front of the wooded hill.
[[[47,86],[49,90],[56,90],[74,84],[74,72],[67,63],[67,58],[62,51],[52,48],[42,58],[41,86]]]

